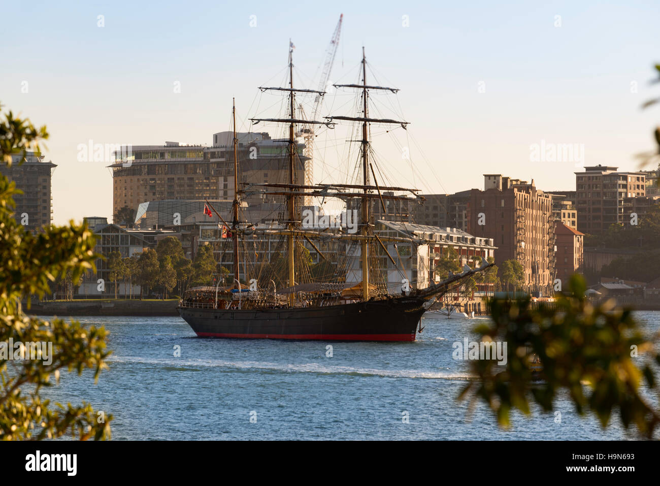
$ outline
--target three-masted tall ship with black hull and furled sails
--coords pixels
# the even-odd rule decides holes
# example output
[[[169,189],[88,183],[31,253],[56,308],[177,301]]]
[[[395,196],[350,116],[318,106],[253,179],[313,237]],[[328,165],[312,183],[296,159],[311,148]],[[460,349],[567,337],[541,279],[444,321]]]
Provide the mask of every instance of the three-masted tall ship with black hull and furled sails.
[[[239,183],[242,161],[238,157],[240,141],[234,104],[231,214],[223,217],[206,201],[208,214],[219,221],[218,233],[222,232],[222,238],[218,241],[231,256],[234,272],[221,271],[220,258],[210,285],[187,289],[178,311],[199,337],[414,341],[416,333],[422,331],[424,312],[450,289],[476,279],[492,263],[484,260],[479,266],[465,265],[460,273],[449,272],[440,282],[425,281],[424,288],[417,288],[420,279],[412,282],[406,278],[405,265],[401,263],[406,256],[399,246],[423,244],[424,236],[379,234],[375,230],[374,206],[380,205],[384,214],[386,202],[418,202],[423,198],[418,190],[379,184],[376,175],[382,172],[370,142],[372,125],[388,130],[407,129],[407,121],[370,114],[372,92],[398,90],[368,83],[368,64],[362,48],[360,82],[333,85],[335,90],[353,92],[353,116],[338,114],[308,120],[298,97],[314,96],[318,100],[326,91],[324,87],[294,87],[292,52],[290,44],[287,85],[259,88],[261,92],[280,94],[285,100],[281,118],[250,119],[253,124],[274,123],[288,129],[288,139],[282,138],[287,180]],[[314,136],[310,137],[310,133],[333,129],[338,123],[351,125],[354,139],[347,143],[357,147],[354,160],[346,162],[346,180],[313,184],[304,175],[306,157],[297,137],[306,134],[311,143]],[[281,205],[280,210],[273,211],[277,213],[275,221],[253,224],[242,216],[245,201],[255,199]],[[323,215],[321,224],[316,213],[310,216],[312,200],[321,201],[321,207],[327,201],[342,201],[344,209],[334,219],[332,215]],[[316,263],[310,259],[310,250],[317,257]],[[395,289],[388,285],[387,268],[398,268],[403,276]]]

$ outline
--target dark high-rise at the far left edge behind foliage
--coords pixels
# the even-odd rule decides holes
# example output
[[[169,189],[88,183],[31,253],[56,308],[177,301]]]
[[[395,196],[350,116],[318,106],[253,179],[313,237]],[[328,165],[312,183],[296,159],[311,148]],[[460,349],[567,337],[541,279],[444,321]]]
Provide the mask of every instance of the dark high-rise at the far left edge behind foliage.
[[[0,164],[0,173],[13,181],[16,189],[23,191],[13,196],[16,203],[14,217],[28,230],[39,230],[50,226],[53,221],[51,175],[55,167],[38,152],[12,155],[11,167]]]

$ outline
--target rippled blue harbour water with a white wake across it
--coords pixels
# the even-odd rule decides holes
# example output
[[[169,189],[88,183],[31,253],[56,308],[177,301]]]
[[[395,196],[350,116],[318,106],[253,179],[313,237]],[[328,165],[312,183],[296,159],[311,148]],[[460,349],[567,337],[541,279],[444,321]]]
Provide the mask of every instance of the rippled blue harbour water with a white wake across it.
[[[660,327],[660,312],[637,316],[647,331]],[[456,398],[469,362],[452,359],[452,343],[472,339],[479,319],[426,314],[414,343],[325,343],[203,339],[178,317],[78,318],[106,326],[110,369],[96,385],[90,372],[63,373],[44,395],[112,413],[115,440],[636,437],[616,417],[603,429],[579,416],[565,396],[556,401],[560,423],[535,408],[531,417],[513,413],[502,430],[481,403],[468,417]]]

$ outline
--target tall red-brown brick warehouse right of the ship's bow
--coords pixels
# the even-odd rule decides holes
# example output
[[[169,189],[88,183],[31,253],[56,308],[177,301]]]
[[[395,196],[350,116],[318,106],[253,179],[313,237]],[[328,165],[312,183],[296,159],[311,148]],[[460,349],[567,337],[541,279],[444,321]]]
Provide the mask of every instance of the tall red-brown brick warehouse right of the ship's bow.
[[[495,263],[517,260],[529,291],[549,295],[555,274],[552,196],[501,174],[484,174],[484,190],[471,190],[468,232],[493,238]]]

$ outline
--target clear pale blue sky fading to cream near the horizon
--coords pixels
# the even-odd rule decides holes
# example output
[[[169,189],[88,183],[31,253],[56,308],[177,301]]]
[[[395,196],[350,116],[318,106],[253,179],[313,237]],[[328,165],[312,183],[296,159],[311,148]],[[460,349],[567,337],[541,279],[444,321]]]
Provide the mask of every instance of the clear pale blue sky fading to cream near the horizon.
[[[108,163],[79,162],[79,144],[211,145],[213,133],[230,129],[233,96],[246,120],[257,86],[284,79],[289,38],[297,81],[315,87],[341,13],[331,81],[357,80],[364,45],[378,81],[401,88],[395,103],[411,122],[409,133],[397,131],[398,145],[378,149],[390,182],[451,193],[501,173],[575,190],[576,164],[533,162],[531,144],[583,144],[582,165],[636,170],[634,154],[653,149],[660,119],[660,108],[640,110],[660,96],[660,85],[649,85],[660,62],[657,0],[0,5],[0,102],[48,125],[57,224],[112,217]],[[341,156],[327,148],[341,133],[322,137],[319,158]]]

